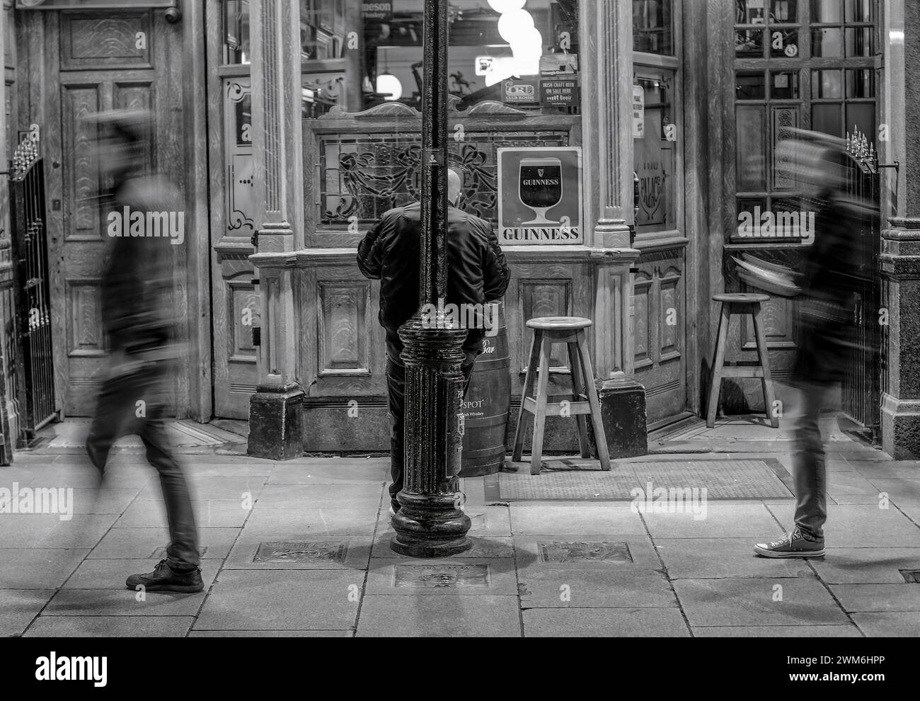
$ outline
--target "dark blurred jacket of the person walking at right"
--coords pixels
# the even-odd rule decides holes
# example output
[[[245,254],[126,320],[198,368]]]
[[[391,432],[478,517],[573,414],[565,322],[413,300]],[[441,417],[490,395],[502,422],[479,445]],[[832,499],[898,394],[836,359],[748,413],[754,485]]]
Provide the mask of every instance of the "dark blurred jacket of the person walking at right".
[[[799,381],[840,380],[856,348],[858,295],[871,274],[865,249],[871,216],[864,204],[840,195],[823,201],[815,216],[814,243],[801,267]]]

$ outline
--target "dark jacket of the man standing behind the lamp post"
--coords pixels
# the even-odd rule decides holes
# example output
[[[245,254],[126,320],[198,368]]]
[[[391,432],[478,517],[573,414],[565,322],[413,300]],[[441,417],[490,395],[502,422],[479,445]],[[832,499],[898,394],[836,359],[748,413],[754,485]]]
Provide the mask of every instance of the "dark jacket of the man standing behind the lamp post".
[[[358,245],[358,268],[380,281],[380,324],[396,337],[419,309],[421,205],[385,213]],[[511,273],[488,222],[451,207],[447,231],[446,304],[482,305],[500,300]]]

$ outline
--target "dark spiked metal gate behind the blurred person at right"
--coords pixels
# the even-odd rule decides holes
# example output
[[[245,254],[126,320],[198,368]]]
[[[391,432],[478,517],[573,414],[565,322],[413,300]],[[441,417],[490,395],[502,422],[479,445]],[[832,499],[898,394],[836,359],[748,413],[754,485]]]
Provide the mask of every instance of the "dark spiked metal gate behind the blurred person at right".
[[[859,132],[847,135],[850,168],[847,192],[862,205],[859,222],[861,265],[859,290],[854,306],[857,325],[856,348],[847,363],[843,380],[843,410],[851,419],[880,434],[882,321],[880,255],[880,178],[874,149]]]

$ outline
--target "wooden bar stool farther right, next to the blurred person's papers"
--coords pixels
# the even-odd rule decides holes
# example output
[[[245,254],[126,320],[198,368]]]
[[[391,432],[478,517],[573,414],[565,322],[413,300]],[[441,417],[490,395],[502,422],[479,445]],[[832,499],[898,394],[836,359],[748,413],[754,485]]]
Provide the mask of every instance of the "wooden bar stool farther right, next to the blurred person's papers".
[[[707,406],[706,425],[711,429],[716,425],[716,411],[719,408],[719,391],[723,377],[759,377],[764,385],[766,416],[773,428],[779,427],[779,418],[773,411],[773,378],[770,376],[770,358],[766,350],[762,302],[769,302],[768,294],[760,293],[723,293],[713,294],[713,302],[722,304],[719,317],[719,336],[716,339],[716,356],[712,361],[712,385],[709,387],[709,404]],[[750,314],[753,316],[754,336],[757,339],[757,362],[737,362],[724,365],[725,342],[729,337],[729,322],[732,314]]]

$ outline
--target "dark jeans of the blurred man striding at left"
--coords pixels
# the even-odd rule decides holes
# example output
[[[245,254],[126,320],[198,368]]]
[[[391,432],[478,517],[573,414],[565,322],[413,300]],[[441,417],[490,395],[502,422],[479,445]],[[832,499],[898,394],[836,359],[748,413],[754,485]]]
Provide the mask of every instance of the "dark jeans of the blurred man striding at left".
[[[169,523],[167,564],[177,571],[196,569],[198,532],[191,509],[189,487],[182,468],[169,451],[163,422],[163,393],[169,374],[161,362],[148,363],[128,374],[109,378],[98,397],[96,417],[86,437],[86,453],[105,474],[112,444],[121,436],[136,433],[147,449],[147,462],[160,474],[160,487]],[[139,402],[143,401],[141,405]],[[142,416],[138,417],[137,414]]]

